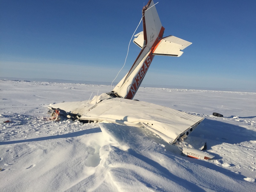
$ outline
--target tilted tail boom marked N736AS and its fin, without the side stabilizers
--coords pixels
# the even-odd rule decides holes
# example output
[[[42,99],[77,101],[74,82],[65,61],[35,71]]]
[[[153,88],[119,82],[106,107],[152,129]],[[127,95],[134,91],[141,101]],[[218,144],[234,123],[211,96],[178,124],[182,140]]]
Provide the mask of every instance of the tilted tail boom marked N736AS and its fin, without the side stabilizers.
[[[142,9],[143,20],[143,45],[137,59],[132,65],[126,76],[116,85],[113,93],[117,96],[132,99],[137,92],[140,84],[146,75],[154,55],[151,54],[151,48],[157,44],[159,38],[163,37],[164,28],[156,11],[154,2],[150,0]],[[142,33],[140,33],[142,35]],[[138,37],[138,34],[135,35]],[[141,36],[140,36],[141,37]],[[140,41],[141,42],[141,41]]]

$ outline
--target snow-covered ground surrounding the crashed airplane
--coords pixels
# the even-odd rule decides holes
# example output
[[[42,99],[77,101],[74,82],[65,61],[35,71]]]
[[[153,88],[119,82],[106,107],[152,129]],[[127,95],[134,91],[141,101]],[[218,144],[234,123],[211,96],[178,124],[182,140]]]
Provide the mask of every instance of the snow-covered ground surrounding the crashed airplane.
[[[145,128],[46,114],[50,103],[110,89],[0,80],[1,191],[255,191],[256,93],[140,87],[134,99],[205,118],[183,143],[206,142],[215,157],[205,161]]]

